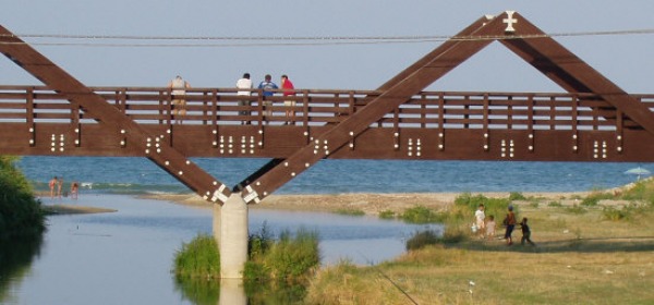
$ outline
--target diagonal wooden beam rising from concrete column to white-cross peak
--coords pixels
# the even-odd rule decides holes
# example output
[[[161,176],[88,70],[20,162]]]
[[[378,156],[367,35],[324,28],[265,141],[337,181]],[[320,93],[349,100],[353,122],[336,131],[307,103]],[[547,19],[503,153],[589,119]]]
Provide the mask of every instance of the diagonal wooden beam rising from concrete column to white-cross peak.
[[[457,36],[488,36],[502,33],[501,17],[480,20]],[[358,112],[299,149],[280,164],[274,167],[242,193],[246,203],[258,203],[278,187],[302,173],[331,151],[340,149],[349,141],[386,113],[399,107],[413,95],[458,66],[477,51],[493,42],[492,39],[450,39],[398,76],[382,85],[383,93]]]

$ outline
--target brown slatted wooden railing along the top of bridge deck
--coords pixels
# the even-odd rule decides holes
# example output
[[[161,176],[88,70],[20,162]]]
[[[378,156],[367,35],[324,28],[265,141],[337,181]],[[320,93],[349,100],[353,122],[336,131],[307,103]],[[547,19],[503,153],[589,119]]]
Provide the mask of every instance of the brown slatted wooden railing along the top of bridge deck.
[[[175,118],[167,88],[92,89],[140,124],[174,124],[180,119],[189,125],[322,126],[344,120],[379,95],[373,90],[296,89],[295,96],[277,91],[264,97],[256,89],[251,96],[239,96],[235,88],[193,88],[186,90],[185,114]],[[654,95],[633,97],[654,108]],[[283,106],[284,100],[293,100],[295,106]],[[284,115],[289,109],[295,117]],[[46,87],[0,86],[0,123],[40,122],[96,123],[92,113]],[[423,91],[371,127],[611,131],[620,125],[635,126],[590,94]]]

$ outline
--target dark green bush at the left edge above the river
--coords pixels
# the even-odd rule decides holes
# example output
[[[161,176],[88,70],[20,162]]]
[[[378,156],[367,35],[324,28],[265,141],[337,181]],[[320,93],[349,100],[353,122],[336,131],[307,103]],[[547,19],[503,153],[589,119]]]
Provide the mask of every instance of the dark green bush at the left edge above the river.
[[[16,160],[0,156],[0,239],[40,234],[46,229],[41,204],[14,167]]]

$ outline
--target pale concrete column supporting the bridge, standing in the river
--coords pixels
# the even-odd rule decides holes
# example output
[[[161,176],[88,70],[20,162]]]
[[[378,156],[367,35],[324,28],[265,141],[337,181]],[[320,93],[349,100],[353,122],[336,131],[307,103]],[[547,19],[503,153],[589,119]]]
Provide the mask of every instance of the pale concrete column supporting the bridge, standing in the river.
[[[247,205],[232,193],[220,208],[220,277],[242,279],[247,261]]]

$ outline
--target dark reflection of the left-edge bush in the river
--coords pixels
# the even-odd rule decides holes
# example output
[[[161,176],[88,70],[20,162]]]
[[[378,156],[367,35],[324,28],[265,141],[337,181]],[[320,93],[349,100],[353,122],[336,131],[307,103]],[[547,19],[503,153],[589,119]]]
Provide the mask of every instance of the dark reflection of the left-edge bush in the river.
[[[0,302],[12,300],[11,286],[29,272],[35,257],[40,255],[43,234],[0,240]]]

